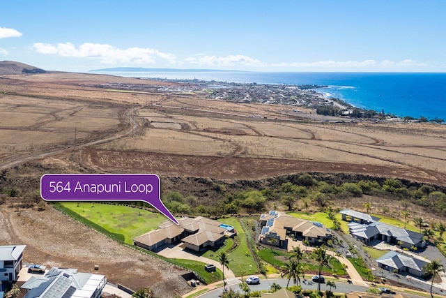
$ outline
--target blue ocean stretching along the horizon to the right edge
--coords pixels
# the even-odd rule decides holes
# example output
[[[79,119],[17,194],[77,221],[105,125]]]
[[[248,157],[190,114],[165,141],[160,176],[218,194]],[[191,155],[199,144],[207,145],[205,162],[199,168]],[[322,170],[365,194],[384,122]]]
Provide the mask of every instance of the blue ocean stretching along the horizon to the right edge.
[[[125,77],[259,84],[317,84],[327,97],[397,116],[446,120],[446,73],[103,72]]]

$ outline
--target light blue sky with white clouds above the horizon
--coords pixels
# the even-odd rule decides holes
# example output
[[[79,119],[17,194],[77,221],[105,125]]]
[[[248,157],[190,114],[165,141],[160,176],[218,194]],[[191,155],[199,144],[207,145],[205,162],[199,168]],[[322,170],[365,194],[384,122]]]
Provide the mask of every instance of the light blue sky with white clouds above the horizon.
[[[446,72],[445,0],[1,0],[0,61],[45,70]]]

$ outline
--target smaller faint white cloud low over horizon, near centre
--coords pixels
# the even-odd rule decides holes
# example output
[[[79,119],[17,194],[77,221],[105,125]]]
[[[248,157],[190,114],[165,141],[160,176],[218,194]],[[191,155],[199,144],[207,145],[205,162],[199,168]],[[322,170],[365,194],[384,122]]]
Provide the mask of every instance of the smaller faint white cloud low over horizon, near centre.
[[[268,66],[259,59],[254,59],[245,55],[228,55],[226,57],[208,56],[196,54],[194,57],[185,59],[189,64],[199,66]]]

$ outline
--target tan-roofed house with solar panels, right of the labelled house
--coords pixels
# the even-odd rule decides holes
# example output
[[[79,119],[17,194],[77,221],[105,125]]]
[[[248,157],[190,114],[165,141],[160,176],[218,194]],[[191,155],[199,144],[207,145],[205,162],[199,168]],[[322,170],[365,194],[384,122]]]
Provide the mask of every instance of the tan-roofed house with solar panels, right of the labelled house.
[[[288,246],[286,237],[293,236],[295,239],[307,240],[313,244],[327,241],[332,237],[330,230],[324,228],[321,223],[312,223],[277,211],[262,214],[259,222],[261,226],[259,241],[282,248]],[[272,238],[276,241],[271,242]]]

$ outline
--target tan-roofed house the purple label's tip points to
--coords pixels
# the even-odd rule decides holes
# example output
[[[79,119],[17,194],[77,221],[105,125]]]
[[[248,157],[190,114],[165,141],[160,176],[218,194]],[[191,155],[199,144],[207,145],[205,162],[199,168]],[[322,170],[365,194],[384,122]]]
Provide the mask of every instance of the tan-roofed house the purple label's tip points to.
[[[136,246],[157,251],[166,244],[185,243],[186,248],[200,251],[206,247],[220,246],[224,237],[234,237],[236,230],[210,218],[197,216],[178,219],[179,225],[167,220],[157,230],[152,230],[133,239]]]

